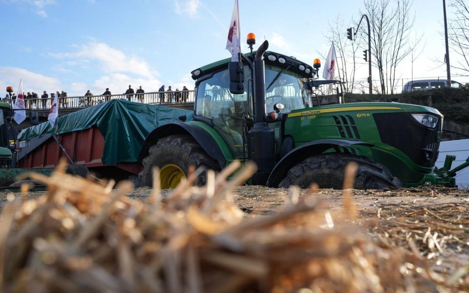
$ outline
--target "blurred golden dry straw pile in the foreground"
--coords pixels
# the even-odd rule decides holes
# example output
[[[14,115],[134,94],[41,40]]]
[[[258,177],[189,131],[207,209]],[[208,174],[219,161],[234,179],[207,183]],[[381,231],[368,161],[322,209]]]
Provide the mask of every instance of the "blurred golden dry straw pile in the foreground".
[[[209,171],[202,188],[192,186],[196,170],[164,199],[154,188],[148,203],[126,197],[129,182],[113,189],[112,182],[67,175],[64,166],[51,177],[31,174],[48,193],[14,199],[3,210],[1,291],[443,292],[459,286],[450,287],[418,252],[379,246],[347,224],[357,213],[347,192],[340,213],[320,210],[314,188],[302,198],[292,188],[282,211],[246,217],[231,192],[256,167],[247,164],[227,181],[239,165],[216,176]],[[352,186],[348,178],[345,187]]]

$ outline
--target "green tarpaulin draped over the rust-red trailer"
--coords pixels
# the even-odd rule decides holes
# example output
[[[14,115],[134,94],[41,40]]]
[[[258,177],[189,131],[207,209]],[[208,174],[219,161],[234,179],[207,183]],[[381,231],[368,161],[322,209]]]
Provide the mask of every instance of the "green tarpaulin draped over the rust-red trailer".
[[[180,122],[178,117],[182,115],[191,121],[192,114],[193,111],[183,109],[111,100],[59,117],[55,127],[47,121],[25,128],[18,135],[18,140],[28,141],[47,133],[80,131],[96,125],[104,137],[101,157],[104,165],[136,162],[145,138],[153,129]]]

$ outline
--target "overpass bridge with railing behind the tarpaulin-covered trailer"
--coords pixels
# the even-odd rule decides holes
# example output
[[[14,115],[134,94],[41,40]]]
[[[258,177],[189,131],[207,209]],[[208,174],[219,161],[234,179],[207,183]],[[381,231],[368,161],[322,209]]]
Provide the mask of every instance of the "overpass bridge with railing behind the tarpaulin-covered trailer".
[[[59,116],[64,116],[87,107],[99,105],[113,99],[192,110],[194,108],[194,97],[195,92],[193,90],[149,92],[143,94],[60,97],[58,98]],[[10,103],[9,100],[3,101]],[[26,106],[26,120],[24,120],[20,125],[15,126],[18,130],[47,121],[53,98],[24,99],[24,102]]]

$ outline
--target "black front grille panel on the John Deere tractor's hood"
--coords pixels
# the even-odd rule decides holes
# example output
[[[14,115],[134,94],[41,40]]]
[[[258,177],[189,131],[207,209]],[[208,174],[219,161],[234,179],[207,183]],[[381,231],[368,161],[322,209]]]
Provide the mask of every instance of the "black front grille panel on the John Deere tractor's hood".
[[[421,125],[407,113],[377,113],[373,118],[384,144],[401,150],[419,166],[435,166],[441,117],[435,128]]]

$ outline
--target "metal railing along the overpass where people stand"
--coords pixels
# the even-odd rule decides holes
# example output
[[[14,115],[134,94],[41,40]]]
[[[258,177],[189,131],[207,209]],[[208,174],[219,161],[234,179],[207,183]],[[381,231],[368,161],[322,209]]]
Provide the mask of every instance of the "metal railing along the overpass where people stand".
[[[119,94],[119,95],[99,95],[99,96],[76,96],[58,98],[59,108],[75,109],[86,108],[98,105],[110,100],[126,100],[131,102],[151,104],[151,105],[171,105],[171,104],[190,104],[194,102],[195,91],[165,91],[149,92],[139,94]],[[24,99],[26,109],[50,109],[53,98],[47,99]],[[3,99],[2,102],[10,103],[9,99]],[[15,104],[15,101],[12,101]]]

